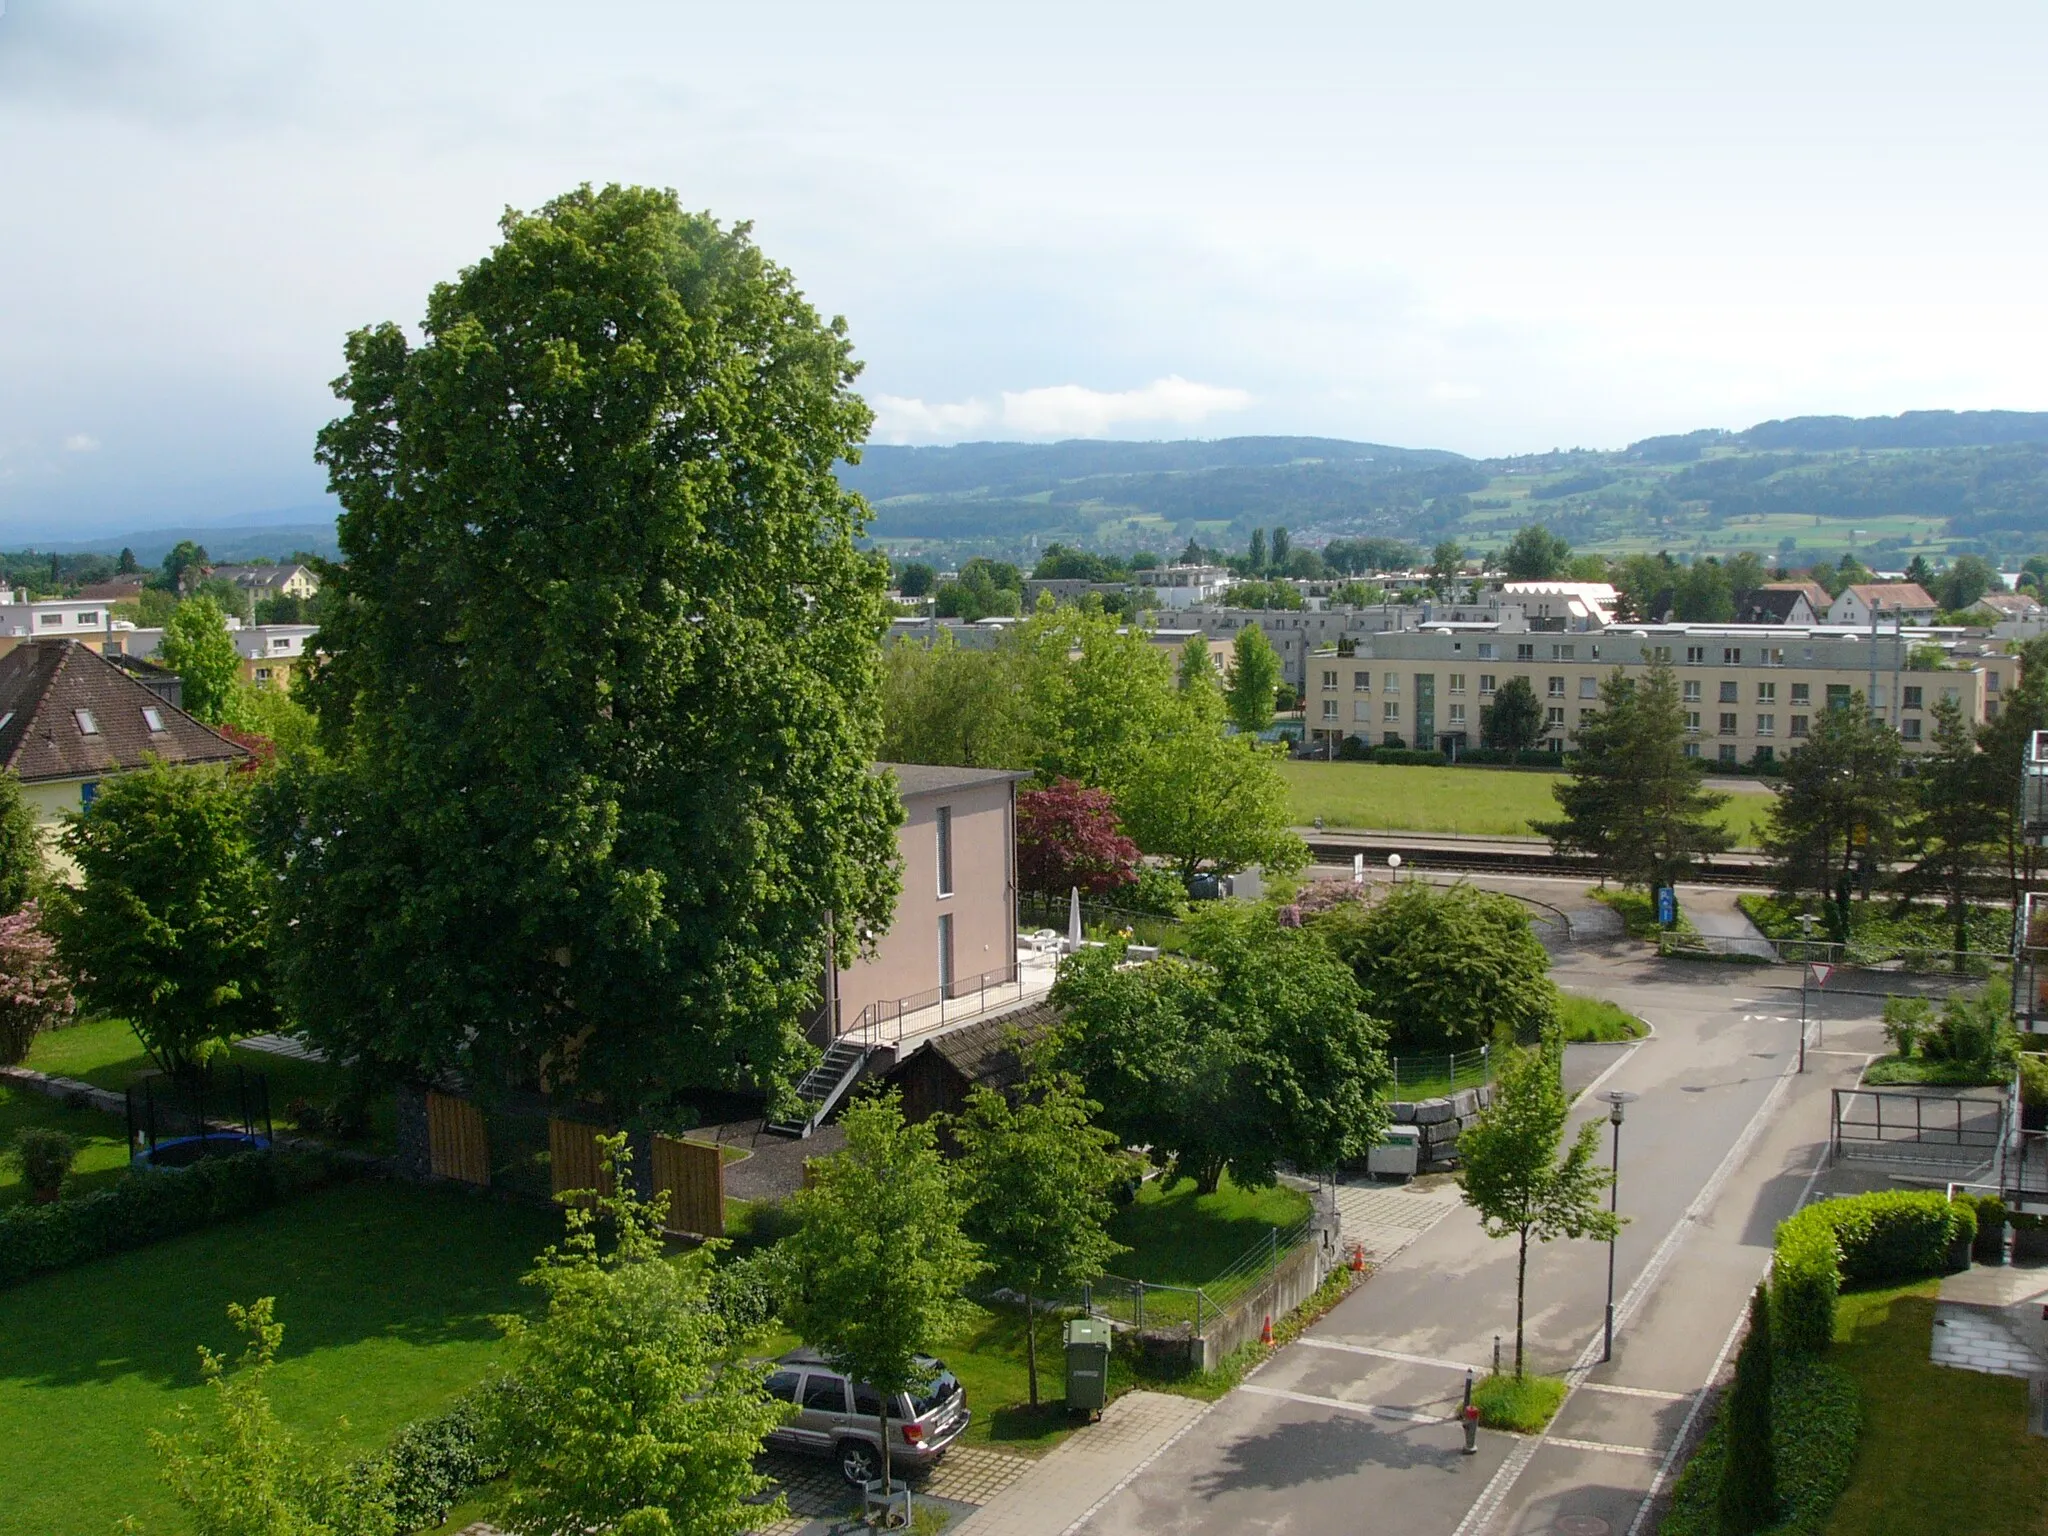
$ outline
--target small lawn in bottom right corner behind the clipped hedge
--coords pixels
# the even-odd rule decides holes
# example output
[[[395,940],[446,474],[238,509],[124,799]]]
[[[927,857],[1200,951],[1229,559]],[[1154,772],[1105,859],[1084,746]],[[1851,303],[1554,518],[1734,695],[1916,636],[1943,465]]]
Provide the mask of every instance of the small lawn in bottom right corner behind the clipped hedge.
[[[1841,1298],[1829,1360],[1855,1378],[1864,1434],[1827,1536],[2048,1530],[2048,1440],[2028,1434],[2028,1384],[1927,1360],[1935,1288]]]

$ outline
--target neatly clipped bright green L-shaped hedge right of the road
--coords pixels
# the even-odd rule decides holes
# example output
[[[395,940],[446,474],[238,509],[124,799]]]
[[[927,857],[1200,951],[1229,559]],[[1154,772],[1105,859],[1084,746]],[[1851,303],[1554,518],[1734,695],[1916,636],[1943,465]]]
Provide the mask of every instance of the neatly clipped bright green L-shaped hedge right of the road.
[[[1976,1212],[1935,1190],[1880,1190],[1821,1200],[1778,1225],[1772,1321],[1788,1354],[1821,1354],[1835,1337],[1845,1284],[1919,1280],[1952,1268],[1976,1241]]]

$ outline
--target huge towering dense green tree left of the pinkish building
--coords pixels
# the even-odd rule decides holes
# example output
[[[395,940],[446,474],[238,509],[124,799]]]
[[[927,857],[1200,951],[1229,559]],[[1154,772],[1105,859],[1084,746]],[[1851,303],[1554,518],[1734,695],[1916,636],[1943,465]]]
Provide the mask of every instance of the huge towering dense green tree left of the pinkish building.
[[[319,434],[346,559],[328,760],[268,805],[283,981],[399,1071],[614,1110],[784,1079],[897,889],[852,344],[674,193],[502,231],[418,346],[348,338]]]

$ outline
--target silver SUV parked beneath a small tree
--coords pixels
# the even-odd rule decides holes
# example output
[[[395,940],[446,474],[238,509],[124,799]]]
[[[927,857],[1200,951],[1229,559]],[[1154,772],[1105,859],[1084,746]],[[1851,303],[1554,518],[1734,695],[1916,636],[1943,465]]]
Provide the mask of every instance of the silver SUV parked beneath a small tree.
[[[889,1405],[889,1460],[905,1470],[944,1456],[973,1417],[967,1391],[944,1360],[922,1356],[918,1364],[932,1384],[924,1393],[897,1393]],[[791,1350],[768,1376],[768,1395],[797,1405],[797,1415],[770,1432],[770,1446],[831,1456],[848,1483],[883,1475],[881,1395],[872,1386],[834,1370],[817,1350]]]

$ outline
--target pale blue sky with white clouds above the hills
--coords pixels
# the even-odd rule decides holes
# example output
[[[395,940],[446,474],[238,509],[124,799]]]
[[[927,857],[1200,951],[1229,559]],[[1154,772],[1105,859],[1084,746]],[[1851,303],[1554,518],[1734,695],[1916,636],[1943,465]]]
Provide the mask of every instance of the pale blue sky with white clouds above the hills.
[[[2038,4],[4,0],[0,539],[319,510],[354,326],[674,186],[881,442],[2048,408]]]

